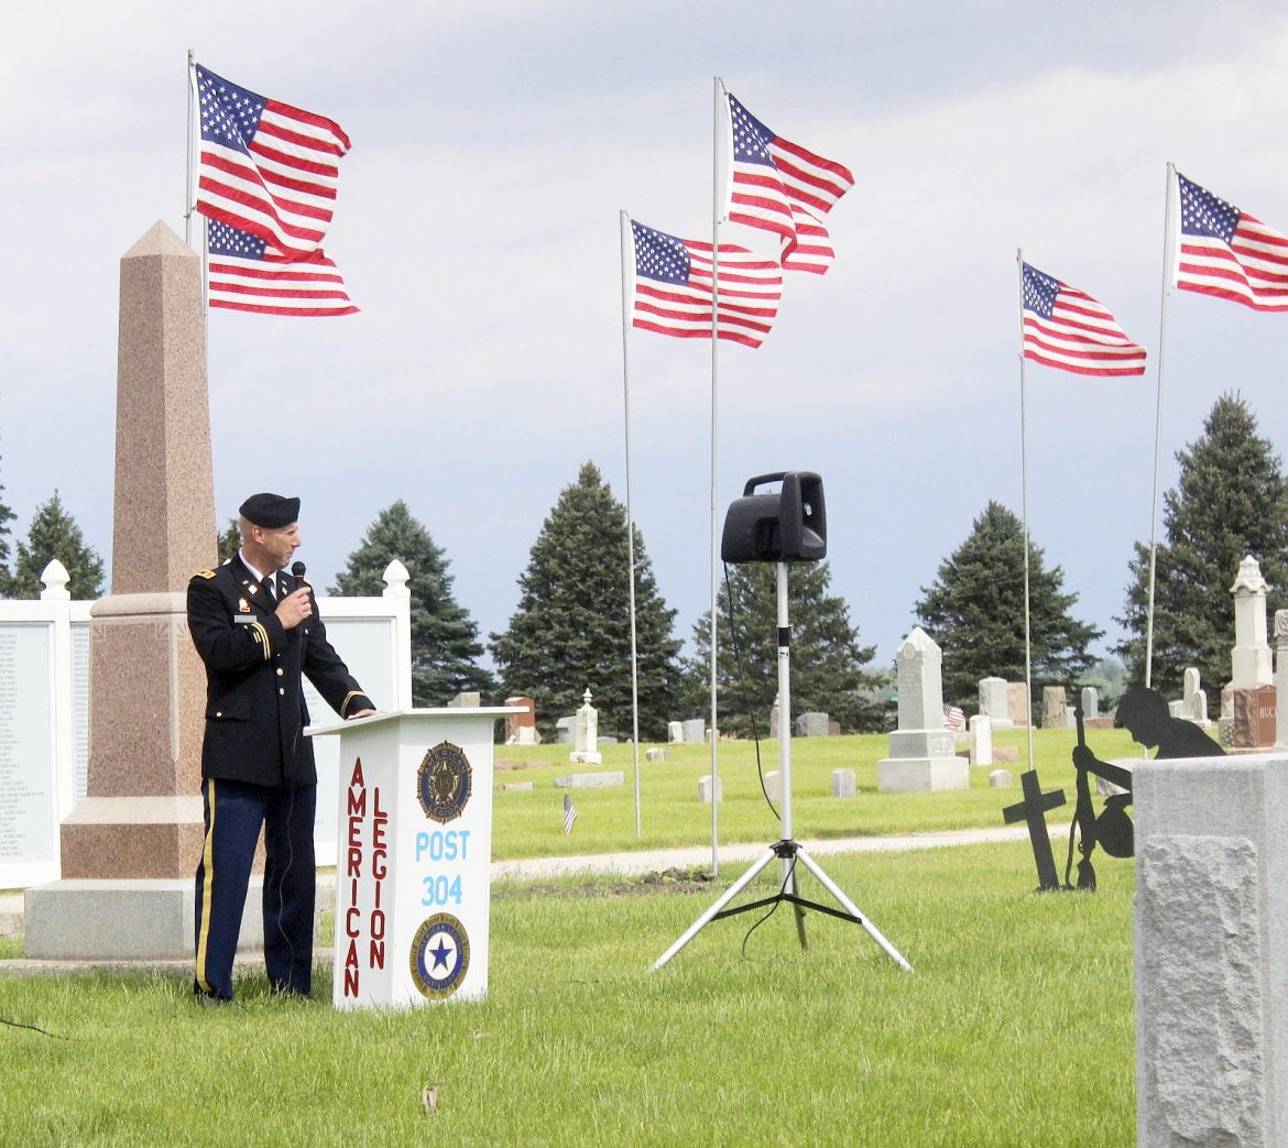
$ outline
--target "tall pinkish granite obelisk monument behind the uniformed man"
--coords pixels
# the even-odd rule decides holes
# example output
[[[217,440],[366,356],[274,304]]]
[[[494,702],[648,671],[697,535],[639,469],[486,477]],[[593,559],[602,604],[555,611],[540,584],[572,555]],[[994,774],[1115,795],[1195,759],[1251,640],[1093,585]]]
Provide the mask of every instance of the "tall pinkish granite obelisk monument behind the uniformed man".
[[[160,222],[121,259],[113,515],[88,795],[62,823],[62,880],[27,893],[28,957],[192,953],[205,675],[183,588],[215,563],[215,504],[201,260]]]

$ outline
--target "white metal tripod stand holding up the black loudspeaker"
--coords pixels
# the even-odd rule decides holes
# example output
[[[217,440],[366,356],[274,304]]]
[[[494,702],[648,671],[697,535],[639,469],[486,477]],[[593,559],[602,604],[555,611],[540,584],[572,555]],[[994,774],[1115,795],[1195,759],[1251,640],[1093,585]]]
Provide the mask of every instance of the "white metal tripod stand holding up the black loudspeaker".
[[[786,478],[793,475],[775,475],[777,478],[784,478],[784,501],[787,500],[787,483]],[[817,481],[817,475],[808,475]],[[760,482],[765,482],[770,475],[761,479],[752,479],[747,484],[747,493],[750,495],[752,487]],[[764,496],[760,496],[764,497]],[[753,501],[743,499],[743,502]],[[737,506],[737,504],[735,504]],[[806,510],[806,514],[809,512]],[[818,514],[822,518],[822,487],[818,491]],[[732,517],[732,512],[730,512]],[[725,542],[723,550],[728,549],[729,544],[729,521],[725,522]],[[818,555],[822,557],[822,555]],[[764,560],[764,559],[756,559]],[[778,731],[778,760],[779,760],[779,777],[782,780],[783,796],[782,796],[782,831],[783,836],[781,840],[770,845],[747,870],[737,881],[734,881],[729,889],[712,904],[702,916],[699,916],[693,925],[689,926],[688,932],[680,937],[666,952],[662,953],[653,964],[653,969],[661,969],[671,957],[674,957],[685,944],[688,944],[702,928],[710,921],[717,921],[723,917],[734,916],[735,914],[748,912],[753,908],[761,908],[766,904],[778,904],[782,901],[790,902],[796,915],[796,935],[800,939],[802,950],[808,950],[809,944],[805,938],[805,910],[813,908],[818,912],[826,912],[831,916],[840,917],[844,921],[851,921],[855,925],[862,925],[864,932],[885,951],[886,956],[890,957],[895,964],[907,971],[912,971],[912,965],[909,965],[899,951],[881,934],[881,930],[872,924],[858,907],[850,901],[837,886],[837,884],[819,867],[818,862],[814,861],[805,849],[792,839],[792,738],[791,738],[791,629],[787,622],[787,563],[778,562],[778,698],[779,698],[779,731]],[[714,801],[716,795],[714,792],[715,785],[712,782],[711,800]],[[756,875],[770,865],[774,858],[781,858],[783,863],[783,881],[778,893],[773,897],[762,897],[759,901],[751,901],[746,904],[735,906],[734,908],[726,908],[729,904],[752,880]],[[832,897],[836,898],[837,903],[845,910],[833,908],[827,904],[818,904],[813,901],[806,901],[800,895],[800,888],[796,881],[796,863],[800,862],[805,866],[815,877],[818,877],[819,884],[827,889]]]

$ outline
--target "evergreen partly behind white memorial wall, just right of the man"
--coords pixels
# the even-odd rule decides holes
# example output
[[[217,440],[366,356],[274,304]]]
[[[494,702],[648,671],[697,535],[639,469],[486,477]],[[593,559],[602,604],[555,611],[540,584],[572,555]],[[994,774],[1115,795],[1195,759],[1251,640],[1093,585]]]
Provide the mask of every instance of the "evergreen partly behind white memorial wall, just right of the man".
[[[411,591],[411,694],[417,706],[442,706],[464,691],[492,693],[492,675],[478,665],[478,626],[452,597],[450,562],[425,526],[399,499],[381,510],[332,594],[380,597],[393,559],[407,567]]]

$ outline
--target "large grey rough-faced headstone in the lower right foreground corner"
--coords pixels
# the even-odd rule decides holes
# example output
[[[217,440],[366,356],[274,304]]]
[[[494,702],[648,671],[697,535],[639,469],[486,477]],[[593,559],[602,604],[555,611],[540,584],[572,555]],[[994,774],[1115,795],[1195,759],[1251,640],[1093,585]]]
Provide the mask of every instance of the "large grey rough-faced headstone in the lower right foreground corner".
[[[1284,1143],[1285,776],[1282,754],[1136,770],[1136,1142],[1145,1148]]]

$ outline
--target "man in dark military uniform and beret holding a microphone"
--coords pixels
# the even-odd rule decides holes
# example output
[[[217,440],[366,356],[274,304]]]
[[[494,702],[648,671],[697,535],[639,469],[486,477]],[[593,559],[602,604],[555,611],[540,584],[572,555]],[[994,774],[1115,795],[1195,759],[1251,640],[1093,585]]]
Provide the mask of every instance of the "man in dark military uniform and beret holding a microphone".
[[[327,642],[312,588],[285,572],[300,545],[299,510],[299,499],[251,496],[241,506],[237,557],[188,584],[188,630],[206,666],[193,984],[204,1004],[232,1000],[261,826],[268,978],[278,992],[309,995],[317,772],[301,675],[341,718],[374,713]]]

